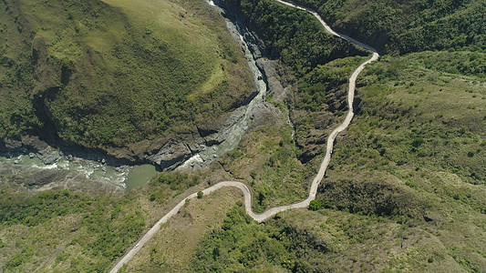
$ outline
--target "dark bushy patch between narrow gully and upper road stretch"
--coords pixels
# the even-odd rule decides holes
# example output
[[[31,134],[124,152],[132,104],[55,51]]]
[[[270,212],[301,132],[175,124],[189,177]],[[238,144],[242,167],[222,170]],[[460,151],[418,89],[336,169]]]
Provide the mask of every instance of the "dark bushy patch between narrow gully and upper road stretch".
[[[292,120],[295,140],[301,148],[299,159],[306,163],[323,154],[327,134],[344,118],[347,110],[347,80],[366,57],[337,59],[316,66],[295,84]]]

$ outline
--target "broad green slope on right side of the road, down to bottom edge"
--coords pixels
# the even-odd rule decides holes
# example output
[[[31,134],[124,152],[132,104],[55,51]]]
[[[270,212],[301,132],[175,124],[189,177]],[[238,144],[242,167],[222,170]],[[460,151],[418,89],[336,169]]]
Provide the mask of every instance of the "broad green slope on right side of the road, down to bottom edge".
[[[237,209],[202,241],[191,267],[481,272],[485,82],[463,60],[482,66],[483,58],[424,52],[370,66],[319,189],[323,208],[265,225]]]

